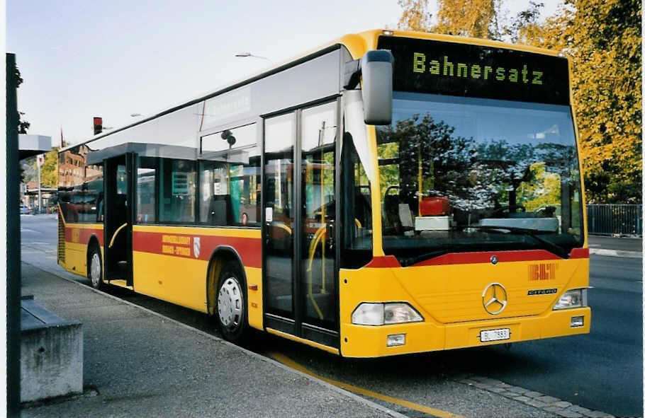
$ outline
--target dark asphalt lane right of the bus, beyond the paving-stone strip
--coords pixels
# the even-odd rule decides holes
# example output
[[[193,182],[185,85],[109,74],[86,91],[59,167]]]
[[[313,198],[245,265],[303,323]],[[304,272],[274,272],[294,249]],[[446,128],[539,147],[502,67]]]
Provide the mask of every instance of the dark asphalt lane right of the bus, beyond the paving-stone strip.
[[[491,349],[488,364],[503,367],[473,372],[619,417],[642,416],[642,259],[592,255],[590,286],[590,334]]]

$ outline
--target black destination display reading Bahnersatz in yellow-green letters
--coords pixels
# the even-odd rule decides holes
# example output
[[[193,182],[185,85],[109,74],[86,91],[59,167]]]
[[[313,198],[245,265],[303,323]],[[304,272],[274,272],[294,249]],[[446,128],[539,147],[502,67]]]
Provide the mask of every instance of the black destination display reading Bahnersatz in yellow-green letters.
[[[381,36],[395,91],[568,105],[563,57],[437,40]]]

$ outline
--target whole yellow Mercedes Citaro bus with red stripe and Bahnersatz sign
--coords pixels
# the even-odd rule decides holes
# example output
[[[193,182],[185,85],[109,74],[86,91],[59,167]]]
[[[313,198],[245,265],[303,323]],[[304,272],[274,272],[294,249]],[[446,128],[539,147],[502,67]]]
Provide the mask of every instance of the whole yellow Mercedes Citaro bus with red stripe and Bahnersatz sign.
[[[60,151],[58,263],[349,357],[587,333],[570,62],[345,35]]]

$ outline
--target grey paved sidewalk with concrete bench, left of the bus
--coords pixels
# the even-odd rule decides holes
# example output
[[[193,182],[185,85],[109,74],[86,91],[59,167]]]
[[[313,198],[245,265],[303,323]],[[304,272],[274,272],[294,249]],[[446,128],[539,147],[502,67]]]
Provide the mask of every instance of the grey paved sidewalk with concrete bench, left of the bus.
[[[22,417],[402,417],[217,337],[22,264],[23,294],[84,335],[84,395]]]

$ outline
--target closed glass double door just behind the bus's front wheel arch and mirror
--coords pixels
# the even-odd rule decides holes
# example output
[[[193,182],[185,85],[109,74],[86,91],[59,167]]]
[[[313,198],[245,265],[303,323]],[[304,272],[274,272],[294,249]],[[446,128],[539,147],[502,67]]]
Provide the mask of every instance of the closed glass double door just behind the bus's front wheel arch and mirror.
[[[339,347],[337,102],[264,121],[264,323]]]

